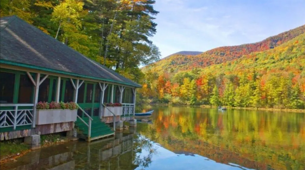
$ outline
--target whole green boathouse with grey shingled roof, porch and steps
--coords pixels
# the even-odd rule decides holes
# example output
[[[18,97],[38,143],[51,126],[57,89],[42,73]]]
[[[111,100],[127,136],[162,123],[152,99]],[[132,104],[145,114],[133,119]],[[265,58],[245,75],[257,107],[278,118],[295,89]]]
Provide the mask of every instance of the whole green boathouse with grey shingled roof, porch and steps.
[[[90,141],[113,135],[110,123],[115,128],[115,122],[134,120],[136,88],[141,85],[16,16],[2,17],[0,22],[1,140],[75,127],[79,137]],[[52,101],[77,103],[75,119],[69,110],[53,115],[36,109],[38,102]]]

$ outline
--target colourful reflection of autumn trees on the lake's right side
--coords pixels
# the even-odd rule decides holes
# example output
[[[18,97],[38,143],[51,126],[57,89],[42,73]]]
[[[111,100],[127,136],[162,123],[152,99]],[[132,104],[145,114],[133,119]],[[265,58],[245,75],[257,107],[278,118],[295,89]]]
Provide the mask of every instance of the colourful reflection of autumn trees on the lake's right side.
[[[154,114],[153,125],[147,125],[149,127],[141,130],[141,134],[167,149],[179,148],[210,157],[214,154],[215,159],[223,162],[225,157],[231,157],[223,155],[224,160],[221,160],[217,155],[236,153],[237,164],[255,160],[261,163],[261,168],[265,165],[276,169],[305,167],[305,114],[252,110],[220,112],[192,107],[164,107],[155,110]],[[209,147],[203,147],[202,142]],[[253,165],[253,168],[257,166]]]

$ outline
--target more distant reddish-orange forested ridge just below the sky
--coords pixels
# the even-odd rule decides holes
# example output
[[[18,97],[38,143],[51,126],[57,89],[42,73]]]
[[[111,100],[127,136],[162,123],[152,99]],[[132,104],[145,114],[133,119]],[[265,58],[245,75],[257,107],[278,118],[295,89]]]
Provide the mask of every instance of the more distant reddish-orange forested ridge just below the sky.
[[[218,47],[195,56],[182,54],[171,55],[166,59],[154,63],[153,67],[155,67],[156,71],[158,72],[163,72],[164,68],[175,71],[191,70],[194,67],[202,68],[213,64],[235,60],[243,55],[250,54],[251,52],[260,52],[267,49],[273,49],[303,33],[305,33],[305,25],[269,37],[261,42]],[[147,67],[143,68],[143,70],[147,69]]]

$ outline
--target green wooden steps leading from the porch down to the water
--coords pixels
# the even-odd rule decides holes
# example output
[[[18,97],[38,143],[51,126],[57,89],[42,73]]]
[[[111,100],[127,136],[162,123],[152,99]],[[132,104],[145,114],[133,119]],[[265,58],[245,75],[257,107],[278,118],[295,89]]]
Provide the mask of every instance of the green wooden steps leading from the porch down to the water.
[[[89,118],[82,118],[89,125]],[[86,139],[87,141],[100,139],[108,136],[114,135],[114,131],[102,122],[99,117],[93,117],[91,121],[91,136],[88,139],[88,126],[81,121],[81,119],[77,118],[75,121],[75,126],[78,129],[79,138]]]

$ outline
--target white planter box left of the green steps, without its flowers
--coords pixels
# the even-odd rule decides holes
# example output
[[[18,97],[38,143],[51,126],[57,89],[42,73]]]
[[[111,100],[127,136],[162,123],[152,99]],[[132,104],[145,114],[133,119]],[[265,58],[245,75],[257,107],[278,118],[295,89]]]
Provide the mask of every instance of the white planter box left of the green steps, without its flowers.
[[[36,111],[36,125],[76,121],[77,109],[47,109]]]

